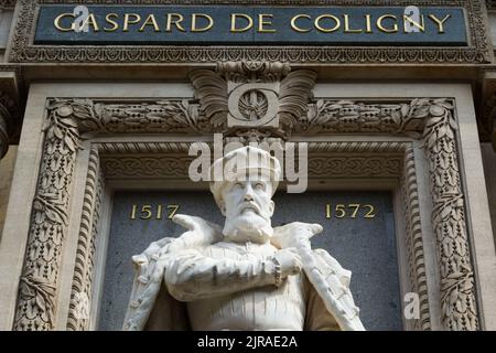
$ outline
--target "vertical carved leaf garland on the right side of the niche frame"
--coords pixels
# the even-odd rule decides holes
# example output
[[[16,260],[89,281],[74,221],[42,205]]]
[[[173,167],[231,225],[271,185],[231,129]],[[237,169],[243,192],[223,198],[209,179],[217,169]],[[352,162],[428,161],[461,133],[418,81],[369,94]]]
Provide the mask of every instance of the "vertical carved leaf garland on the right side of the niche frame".
[[[422,106],[422,111],[428,111],[423,141],[430,168],[442,321],[448,330],[477,330],[474,269],[456,154],[457,122],[448,99],[430,100]]]

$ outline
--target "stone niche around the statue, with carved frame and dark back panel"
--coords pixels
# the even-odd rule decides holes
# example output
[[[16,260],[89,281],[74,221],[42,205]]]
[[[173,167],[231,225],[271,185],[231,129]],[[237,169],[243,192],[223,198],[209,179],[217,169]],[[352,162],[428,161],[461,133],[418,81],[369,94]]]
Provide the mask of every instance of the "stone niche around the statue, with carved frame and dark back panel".
[[[274,222],[325,226],[314,244],[354,271],[366,328],[496,328],[470,86],[315,84],[310,69],[250,62],[191,78],[32,85],[2,234],[0,328],[118,329],[130,255],[180,234],[168,220],[130,220],[132,205],[173,203],[222,221],[207,185],[187,178],[190,146],[214,132],[308,142],[309,191],[281,189]],[[233,105],[247,93],[245,111],[268,108],[239,116]],[[377,216],[327,218],[327,203],[374,205]],[[412,318],[402,315],[407,293],[418,298]]]

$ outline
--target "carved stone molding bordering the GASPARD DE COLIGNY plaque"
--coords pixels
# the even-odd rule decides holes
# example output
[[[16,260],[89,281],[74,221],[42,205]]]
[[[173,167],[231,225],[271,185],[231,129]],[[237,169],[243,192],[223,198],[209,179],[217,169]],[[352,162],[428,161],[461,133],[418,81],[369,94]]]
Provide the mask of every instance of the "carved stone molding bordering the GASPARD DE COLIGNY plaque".
[[[417,6],[463,7],[467,14],[470,46],[122,46],[33,45],[35,14],[43,3],[123,4],[123,0],[21,0],[10,62],[15,63],[216,63],[218,61],[280,61],[309,64],[487,64],[493,60],[487,38],[484,0],[419,0]],[[246,4],[236,0],[138,0],[138,4]],[[260,0],[273,6],[411,6],[409,0]]]

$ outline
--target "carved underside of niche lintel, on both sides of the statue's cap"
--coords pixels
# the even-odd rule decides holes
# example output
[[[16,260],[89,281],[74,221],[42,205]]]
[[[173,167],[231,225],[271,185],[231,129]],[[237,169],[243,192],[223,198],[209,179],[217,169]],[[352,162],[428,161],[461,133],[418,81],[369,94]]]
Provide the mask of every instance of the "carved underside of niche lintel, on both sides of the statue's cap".
[[[106,142],[99,148],[107,180],[184,180],[194,159],[187,156],[188,143]],[[399,179],[403,172],[405,142],[314,142],[309,152],[310,179]]]

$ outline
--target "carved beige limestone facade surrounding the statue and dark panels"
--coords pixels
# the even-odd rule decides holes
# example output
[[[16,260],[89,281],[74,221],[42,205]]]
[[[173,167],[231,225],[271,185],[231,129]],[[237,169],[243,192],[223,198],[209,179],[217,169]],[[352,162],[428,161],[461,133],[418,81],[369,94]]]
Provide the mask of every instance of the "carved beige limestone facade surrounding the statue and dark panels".
[[[205,188],[188,147],[224,132],[309,142],[311,190],[392,192],[405,329],[496,330],[493,1],[420,2],[465,8],[470,46],[34,45],[34,10],[64,1],[0,1],[0,329],[96,329],[112,192]],[[364,154],[379,167],[319,162]]]

